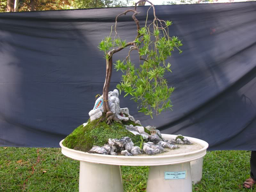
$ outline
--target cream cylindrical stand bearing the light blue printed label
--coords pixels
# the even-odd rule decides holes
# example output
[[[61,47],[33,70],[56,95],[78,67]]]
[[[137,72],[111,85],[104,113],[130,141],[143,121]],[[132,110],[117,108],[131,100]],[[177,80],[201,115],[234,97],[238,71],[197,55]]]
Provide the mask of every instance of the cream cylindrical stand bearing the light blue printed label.
[[[150,166],[147,192],[192,192],[190,162]]]

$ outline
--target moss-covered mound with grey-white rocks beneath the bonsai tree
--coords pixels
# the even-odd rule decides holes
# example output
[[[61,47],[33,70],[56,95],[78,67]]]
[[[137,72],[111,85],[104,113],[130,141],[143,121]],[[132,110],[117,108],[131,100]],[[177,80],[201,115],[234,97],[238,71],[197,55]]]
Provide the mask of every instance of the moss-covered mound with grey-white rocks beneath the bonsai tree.
[[[90,119],[77,127],[63,141],[65,147],[89,153],[103,155],[156,155],[167,149],[179,148],[179,145],[192,143],[181,135],[165,140],[156,127],[143,127],[139,120],[129,114],[128,108],[120,108],[119,93],[115,89],[108,93],[109,105],[116,121],[108,124],[103,111],[102,96],[89,112]],[[169,150],[168,150],[169,151]]]

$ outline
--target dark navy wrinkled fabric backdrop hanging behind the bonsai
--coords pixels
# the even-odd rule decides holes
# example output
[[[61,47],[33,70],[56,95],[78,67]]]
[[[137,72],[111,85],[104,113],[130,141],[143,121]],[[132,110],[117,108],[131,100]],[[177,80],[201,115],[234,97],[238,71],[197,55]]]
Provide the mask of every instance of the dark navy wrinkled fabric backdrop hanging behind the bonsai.
[[[148,8],[138,7],[141,26]],[[106,74],[97,46],[127,9],[0,13],[1,146],[59,147],[88,120]],[[127,42],[136,36],[131,15],[117,23]],[[157,5],[156,15],[172,20],[169,34],[184,44],[167,60],[173,111],[151,119],[123,93],[120,107],[161,133],[205,140],[209,150],[256,150],[256,2]],[[114,63],[128,51],[114,54]],[[138,66],[138,53],[131,58]],[[121,75],[113,69],[109,90]]]

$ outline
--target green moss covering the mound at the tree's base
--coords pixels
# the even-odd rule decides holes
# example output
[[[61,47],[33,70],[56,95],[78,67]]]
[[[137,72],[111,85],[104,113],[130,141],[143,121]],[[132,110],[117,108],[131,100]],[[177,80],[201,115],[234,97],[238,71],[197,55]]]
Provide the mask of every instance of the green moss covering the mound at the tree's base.
[[[140,135],[134,135],[126,130],[124,124],[114,122],[111,125],[107,125],[105,121],[99,122],[99,119],[96,119],[92,122],[88,121],[85,127],[84,125],[77,127],[65,138],[63,145],[71,149],[87,152],[93,145],[103,146],[108,143],[109,138],[121,139],[122,137],[130,137],[133,143],[136,143],[135,146],[139,145]]]

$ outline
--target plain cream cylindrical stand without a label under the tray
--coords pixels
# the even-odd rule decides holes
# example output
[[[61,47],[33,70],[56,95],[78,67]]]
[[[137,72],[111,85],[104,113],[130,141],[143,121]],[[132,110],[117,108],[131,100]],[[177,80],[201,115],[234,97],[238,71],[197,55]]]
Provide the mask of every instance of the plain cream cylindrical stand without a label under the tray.
[[[80,161],[79,192],[124,192],[119,165]]]

